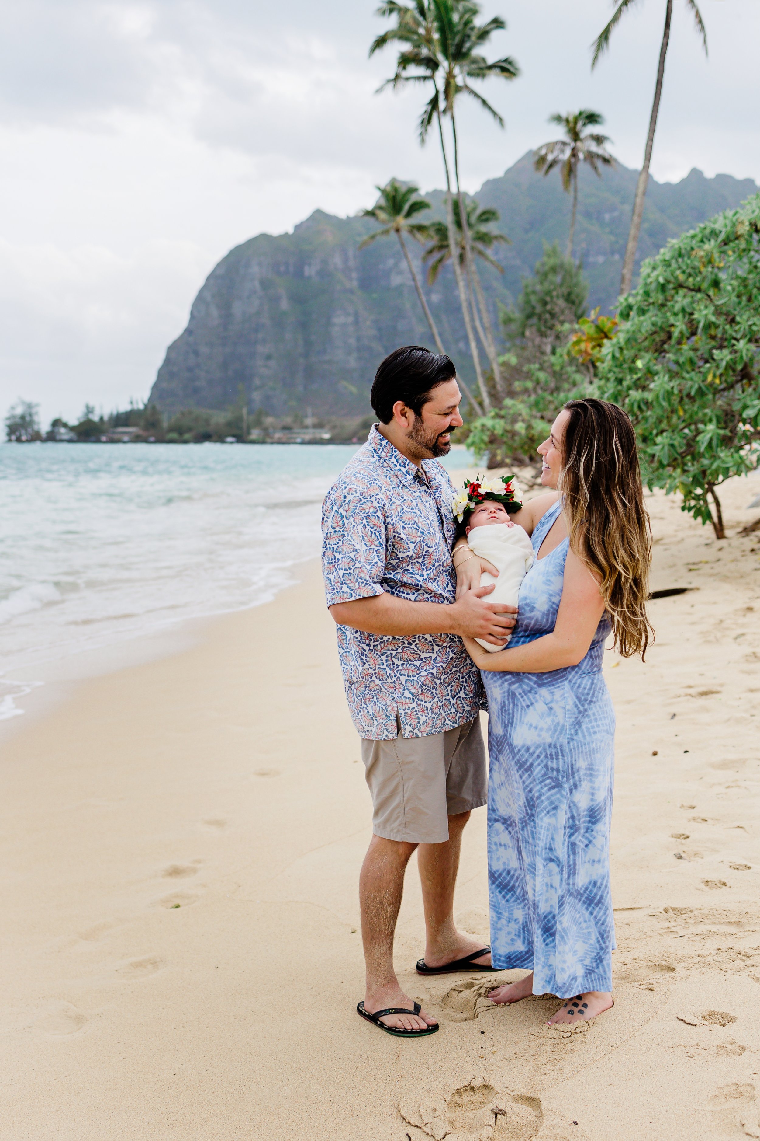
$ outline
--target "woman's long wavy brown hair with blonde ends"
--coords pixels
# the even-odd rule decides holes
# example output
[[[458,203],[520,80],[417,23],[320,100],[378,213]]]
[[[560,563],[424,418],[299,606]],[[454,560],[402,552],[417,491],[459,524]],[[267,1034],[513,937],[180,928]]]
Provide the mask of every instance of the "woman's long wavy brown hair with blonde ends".
[[[622,657],[641,658],[654,630],[646,615],[652,532],[636,434],[606,400],[569,400],[559,492],[570,545],[599,578]]]

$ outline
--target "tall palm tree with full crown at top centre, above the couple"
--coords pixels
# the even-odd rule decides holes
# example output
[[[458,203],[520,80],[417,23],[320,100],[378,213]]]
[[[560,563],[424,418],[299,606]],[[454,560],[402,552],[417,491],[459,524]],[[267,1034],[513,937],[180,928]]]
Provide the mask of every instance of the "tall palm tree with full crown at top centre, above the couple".
[[[409,3],[401,3],[399,0],[385,0],[377,9],[377,15],[395,18],[397,23],[375,39],[369,54],[370,56],[374,55],[375,51],[378,51],[391,42],[403,44],[402,50],[397,57],[395,73],[382,84],[381,90],[389,84],[395,88],[402,83],[427,83],[432,87],[431,97],[425,104],[419,119],[419,139],[424,144],[430,128],[433,123],[438,126],[443,170],[446,173],[447,225],[451,248],[451,264],[459,292],[459,302],[461,305],[475,375],[483,404],[485,408],[490,408],[491,403],[481,370],[473,318],[479,337],[491,359],[497,386],[499,385],[498,356],[480,278],[474,267],[474,260],[467,249],[466,217],[464,273],[463,266],[459,264],[459,258],[453,256],[457,236],[452,207],[451,168],[442,123],[443,115],[448,114],[451,116],[457,197],[460,202],[460,216],[466,216],[459,186],[459,161],[456,121],[453,118],[455,99],[457,95],[466,91],[488,107],[491,114],[497,118],[497,121],[501,122],[497,112],[472,88],[471,80],[487,79],[497,74],[504,78],[514,78],[517,74],[517,65],[514,60],[505,58],[489,63],[475,50],[488,40],[492,32],[505,26],[504,22],[497,17],[479,27],[476,24],[479,11],[480,6],[474,0],[410,0]],[[465,277],[468,278],[467,283],[465,282]],[[479,319],[477,306],[475,306],[474,298],[472,298],[473,285],[479,297],[481,317],[483,318],[482,324]],[[467,296],[467,286],[469,297]]]

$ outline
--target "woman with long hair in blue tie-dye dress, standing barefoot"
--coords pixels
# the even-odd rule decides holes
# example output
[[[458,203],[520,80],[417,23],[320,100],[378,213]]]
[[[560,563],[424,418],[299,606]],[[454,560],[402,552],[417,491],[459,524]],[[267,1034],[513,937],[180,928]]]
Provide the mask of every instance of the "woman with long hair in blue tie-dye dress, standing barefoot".
[[[515,632],[500,653],[465,645],[490,711],[492,962],[531,971],[490,997],[558,995],[566,1001],[551,1025],[613,1004],[615,720],[602,659],[611,632],[623,657],[646,650],[651,535],[636,437],[621,408],[571,400],[538,451],[541,483],[554,491],[513,515],[536,552]]]

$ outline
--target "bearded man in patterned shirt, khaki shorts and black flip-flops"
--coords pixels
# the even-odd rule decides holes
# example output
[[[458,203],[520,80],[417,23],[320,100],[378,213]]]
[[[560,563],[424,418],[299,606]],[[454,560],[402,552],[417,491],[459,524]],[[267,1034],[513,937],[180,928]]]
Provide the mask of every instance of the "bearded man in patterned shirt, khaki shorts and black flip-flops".
[[[379,423],[322,509],[327,605],[374,807],[359,881],[367,990],[358,1012],[407,1037],[438,1030],[393,970],[415,849],[426,929],[417,969],[491,964],[490,948],[453,925],[461,832],[487,800],[483,691],[460,637],[501,645],[515,620],[514,607],[488,601],[492,586],[456,600],[453,487],[436,458],[461,427],[460,399],[449,357],[418,346],[391,353],[370,395]]]

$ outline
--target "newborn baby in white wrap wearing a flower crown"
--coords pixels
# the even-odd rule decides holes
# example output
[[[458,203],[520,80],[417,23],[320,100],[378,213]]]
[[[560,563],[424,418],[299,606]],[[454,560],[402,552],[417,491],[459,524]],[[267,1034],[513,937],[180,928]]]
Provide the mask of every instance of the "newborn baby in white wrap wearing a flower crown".
[[[533,561],[533,547],[528,533],[509,519],[509,513],[502,501],[508,499],[512,505],[514,499],[509,493],[514,484],[508,484],[506,479],[502,482],[506,485],[506,495],[502,492],[495,499],[491,497],[493,493],[487,491],[483,485],[471,484],[469,486],[477,487],[477,491],[473,497],[471,497],[472,493],[467,495],[466,507],[460,503],[464,510],[461,516],[458,515],[458,518],[463,521],[465,513],[467,515],[465,534],[467,535],[467,545],[473,553],[488,559],[499,572],[498,578],[487,572],[481,575],[481,586],[496,583],[492,592],[488,596],[489,602],[507,602],[509,606],[516,606],[521,583]],[[481,497],[483,494],[488,497]],[[464,494],[461,499],[464,499]],[[477,638],[476,641],[484,649],[496,654],[505,648],[509,639],[507,638],[502,646],[493,646],[481,638]]]

